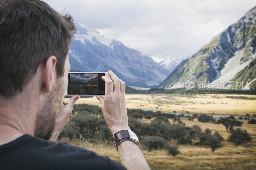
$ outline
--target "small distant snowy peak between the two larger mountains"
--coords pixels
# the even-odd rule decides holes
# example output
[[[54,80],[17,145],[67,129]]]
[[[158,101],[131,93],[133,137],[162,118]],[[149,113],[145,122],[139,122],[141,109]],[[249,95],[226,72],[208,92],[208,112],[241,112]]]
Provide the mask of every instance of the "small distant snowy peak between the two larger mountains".
[[[176,68],[177,65],[180,64],[182,60],[187,59],[189,56],[168,56],[168,57],[156,57],[152,56],[151,58],[165,69],[167,69],[170,73]]]

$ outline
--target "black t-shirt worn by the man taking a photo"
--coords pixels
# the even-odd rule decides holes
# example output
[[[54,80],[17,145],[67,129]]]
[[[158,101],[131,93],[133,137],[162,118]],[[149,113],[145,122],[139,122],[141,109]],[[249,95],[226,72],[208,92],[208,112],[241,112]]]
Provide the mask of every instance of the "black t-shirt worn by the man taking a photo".
[[[126,169],[107,156],[100,156],[67,142],[51,142],[23,135],[0,146],[0,169]]]

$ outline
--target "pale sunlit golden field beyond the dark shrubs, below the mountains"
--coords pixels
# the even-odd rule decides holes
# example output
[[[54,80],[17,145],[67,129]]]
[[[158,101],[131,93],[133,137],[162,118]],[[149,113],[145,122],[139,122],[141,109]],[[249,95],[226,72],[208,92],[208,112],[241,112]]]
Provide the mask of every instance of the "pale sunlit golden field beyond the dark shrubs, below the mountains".
[[[64,99],[68,102],[68,99]],[[179,113],[207,113],[224,115],[256,114],[256,95],[244,94],[125,94],[127,108],[152,109]],[[93,98],[81,98],[76,104],[100,106]]]

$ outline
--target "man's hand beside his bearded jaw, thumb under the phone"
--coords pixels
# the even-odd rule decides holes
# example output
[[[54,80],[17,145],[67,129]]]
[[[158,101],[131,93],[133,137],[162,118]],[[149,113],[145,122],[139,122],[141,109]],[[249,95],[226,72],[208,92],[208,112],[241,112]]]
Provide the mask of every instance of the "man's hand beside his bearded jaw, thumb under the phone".
[[[79,99],[79,96],[72,96],[68,100],[67,105],[64,105],[63,103],[61,104],[59,114],[56,115],[55,128],[52,132],[52,137],[51,137],[50,141],[55,141],[57,139],[57,137],[59,136],[61,130],[68,123],[68,119],[72,113],[74,104],[77,99]]]

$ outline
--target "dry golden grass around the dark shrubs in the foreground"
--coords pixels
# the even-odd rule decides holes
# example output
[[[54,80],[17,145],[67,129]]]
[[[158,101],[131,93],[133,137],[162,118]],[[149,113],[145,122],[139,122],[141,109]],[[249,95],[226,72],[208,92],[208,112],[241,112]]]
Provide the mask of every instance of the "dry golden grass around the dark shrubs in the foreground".
[[[151,122],[153,119],[142,119],[143,122]],[[195,120],[195,119],[194,119]],[[172,122],[172,120],[170,119]],[[224,140],[227,140],[229,133],[221,124],[191,122],[183,120],[186,126],[194,124],[200,125],[201,129],[211,129],[213,132],[218,131]],[[239,146],[230,142],[222,142],[223,147],[218,148],[212,153],[207,146],[198,145],[178,145],[172,141],[172,144],[177,144],[180,154],[176,157],[170,156],[165,150],[156,150],[149,152],[142,150],[145,158],[148,161],[151,169],[255,169],[256,167],[256,125],[248,124],[243,120],[242,129],[246,129],[252,136],[252,142],[242,144]],[[68,141],[71,144],[85,147],[100,155],[107,155],[111,159],[120,161],[118,152],[114,145],[107,144],[92,144],[80,142],[77,139],[69,141],[69,139],[62,139],[61,141]]]

